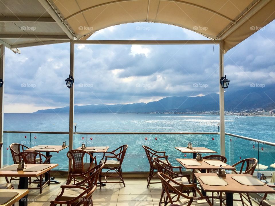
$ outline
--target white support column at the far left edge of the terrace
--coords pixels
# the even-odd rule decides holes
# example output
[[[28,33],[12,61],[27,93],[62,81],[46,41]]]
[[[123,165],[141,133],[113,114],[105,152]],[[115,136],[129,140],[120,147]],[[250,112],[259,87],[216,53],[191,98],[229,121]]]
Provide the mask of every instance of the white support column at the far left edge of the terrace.
[[[5,46],[0,45],[0,78],[4,81],[5,73]],[[4,130],[4,85],[0,87],[0,142],[3,142],[3,130]],[[3,148],[0,153],[0,168],[3,166]]]

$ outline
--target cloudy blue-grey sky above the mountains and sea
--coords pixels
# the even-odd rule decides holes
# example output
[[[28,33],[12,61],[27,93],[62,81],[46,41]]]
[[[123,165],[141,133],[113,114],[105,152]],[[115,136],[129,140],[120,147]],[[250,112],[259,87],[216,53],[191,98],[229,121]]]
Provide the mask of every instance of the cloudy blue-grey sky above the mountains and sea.
[[[224,57],[230,90],[274,84],[275,21],[229,50]],[[89,39],[198,40],[187,29],[159,23],[128,23]],[[5,113],[69,105],[69,43],[6,49]],[[75,104],[127,104],[167,96],[219,91],[218,45],[75,45]]]

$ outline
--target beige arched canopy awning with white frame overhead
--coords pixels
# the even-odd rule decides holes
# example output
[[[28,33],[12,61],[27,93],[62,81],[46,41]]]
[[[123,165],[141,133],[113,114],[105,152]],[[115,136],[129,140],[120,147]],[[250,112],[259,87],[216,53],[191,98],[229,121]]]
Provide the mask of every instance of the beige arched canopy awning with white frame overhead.
[[[274,8],[275,0],[3,0],[0,43],[17,48],[85,40],[112,25],[158,22],[224,40],[226,52],[274,20]]]

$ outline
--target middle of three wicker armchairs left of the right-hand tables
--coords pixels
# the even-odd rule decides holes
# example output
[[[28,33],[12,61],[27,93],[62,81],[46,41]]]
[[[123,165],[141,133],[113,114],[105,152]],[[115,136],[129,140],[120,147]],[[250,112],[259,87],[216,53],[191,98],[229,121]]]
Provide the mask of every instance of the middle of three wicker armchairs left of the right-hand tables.
[[[165,158],[165,162],[168,162],[168,156],[164,156]],[[158,172],[162,172],[166,175],[168,175],[170,178],[172,178],[174,181],[184,184],[184,185],[190,185],[192,184],[190,181],[190,175],[184,175],[182,174],[182,167],[181,166],[172,166],[172,165],[168,165],[166,164],[163,160],[163,157],[153,157],[153,161],[155,163],[155,165],[157,166]],[[174,169],[179,170],[178,173],[175,173],[175,171],[173,171]],[[178,185],[174,185],[173,183],[171,183],[172,186],[176,187],[178,190],[180,190],[180,187],[178,187]],[[192,193],[193,191],[190,190],[190,188],[185,187],[182,188],[181,190],[182,193],[187,193],[187,195],[189,195],[190,193]],[[169,193],[174,193],[174,191],[169,191]],[[174,193],[176,197],[178,195],[178,193]],[[193,194],[195,196],[195,194]],[[161,197],[160,197],[160,203],[159,205],[161,205],[162,203],[167,204],[167,195],[166,195],[166,199],[165,199],[165,190],[162,188],[162,193],[161,193]],[[174,199],[174,197],[172,197],[172,199]]]

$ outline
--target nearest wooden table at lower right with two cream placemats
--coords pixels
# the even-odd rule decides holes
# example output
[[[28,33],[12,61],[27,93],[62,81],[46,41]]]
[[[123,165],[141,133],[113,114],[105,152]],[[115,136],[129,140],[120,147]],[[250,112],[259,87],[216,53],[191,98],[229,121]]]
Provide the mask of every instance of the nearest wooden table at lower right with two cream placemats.
[[[200,177],[201,176],[217,176],[217,174],[213,173],[195,173],[197,180],[199,181],[202,189],[205,192],[225,192],[226,194],[226,206],[233,206],[233,193],[275,193],[275,190],[268,187],[268,185],[264,184],[262,186],[247,186],[242,185],[238,181],[234,180],[232,176],[249,176],[251,175],[243,175],[243,174],[227,174],[226,177],[223,177],[225,181],[228,182],[226,186],[211,186],[205,185]]]

